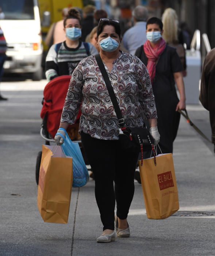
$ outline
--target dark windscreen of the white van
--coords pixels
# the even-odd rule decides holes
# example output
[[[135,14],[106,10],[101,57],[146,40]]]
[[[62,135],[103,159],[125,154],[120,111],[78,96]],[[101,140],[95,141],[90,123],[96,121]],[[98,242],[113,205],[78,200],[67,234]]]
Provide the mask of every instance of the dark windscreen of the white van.
[[[6,20],[34,19],[34,0],[1,0],[0,7]]]

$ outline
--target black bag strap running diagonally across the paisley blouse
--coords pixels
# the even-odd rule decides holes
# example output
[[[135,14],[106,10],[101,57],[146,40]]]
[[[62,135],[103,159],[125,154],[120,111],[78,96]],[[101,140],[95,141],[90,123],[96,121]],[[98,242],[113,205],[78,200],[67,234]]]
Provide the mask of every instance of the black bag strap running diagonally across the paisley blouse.
[[[109,95],[110,95],[110,97],[111,97],[111,101],[112,101],[112,104],[113,104],[113,106],[114,106],[114,110],[115,110],[115,112],[116,112],[116,116],[117,116],[117,118],[118,118],[118,124],[120,125],[120,127],[123,127],[123,126],[125,125],[125,123],[124,123],[124,118],[123,118],[122,113],[121,113],[121,110],[120,110],[120,108],[119,108],[119,104],[118,104],[118,102],[117,102],[116,95],[115,95],[115,93],[114,93],[114,89],[113,89],[112,84],[111,84],[111,81],[110,81],[110,79],[109,79],[109,77],[108,77],[107,71],[106,71],[106,69],[105,69],[105,67],[104,67],[104,64],[103,64],[103,61],[102,61],[102,59],[101,59],[100,54],[99,54],[99,53],[96,54],[95,57],[96,57],[97,64],[98,64],[98,66],[99,66],[99,68],[100,68],[101,75],[102,75],[103,78],[104,78],[104,82],[105,82],[105,84],[106,84],[108,93],[109,93]]]

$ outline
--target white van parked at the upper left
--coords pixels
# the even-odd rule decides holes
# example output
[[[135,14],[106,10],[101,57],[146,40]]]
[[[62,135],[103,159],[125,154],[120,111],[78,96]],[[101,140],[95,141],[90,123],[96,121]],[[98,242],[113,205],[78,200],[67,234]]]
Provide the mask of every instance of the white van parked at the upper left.
[[[31,73],[42,79],[42,37],[37,0],[1,0],[0,27],[7,41],[5,73]]]

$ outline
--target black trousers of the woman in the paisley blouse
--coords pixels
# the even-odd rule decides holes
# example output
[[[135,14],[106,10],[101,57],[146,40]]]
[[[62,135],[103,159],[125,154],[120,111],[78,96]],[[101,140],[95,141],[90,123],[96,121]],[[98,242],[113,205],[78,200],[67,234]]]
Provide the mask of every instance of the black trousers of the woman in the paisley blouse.
[[[95,176],[95,196],[103,230],[114,230],[115,202],[116,215],[126,219],[133,200],[138,152],[122,152],[118,140],[95,139],[83,132],[81,143]]]

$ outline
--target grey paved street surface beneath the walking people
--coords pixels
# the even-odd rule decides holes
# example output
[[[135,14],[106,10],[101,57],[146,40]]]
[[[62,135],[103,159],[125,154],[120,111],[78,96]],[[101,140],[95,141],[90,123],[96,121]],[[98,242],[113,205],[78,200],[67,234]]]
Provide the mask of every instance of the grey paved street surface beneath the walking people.
[[[0,102],[0,255],[215,255],[215,167],[212,145],[181,117],[174,143],[180,211],[162,221],[149,220],[142,188],[128,222],[130,238],[97,244],[101,233],[94,181],[73,189],[67,225],[44,223],[37,209],[35,162],[44,143],[39,135],[46,82],[9,81],[0,85],[9,98]],[[191,120],[210,138],[208,112],[188,106]]]

